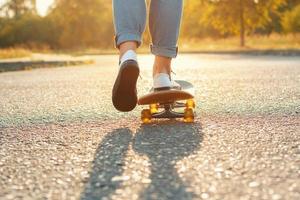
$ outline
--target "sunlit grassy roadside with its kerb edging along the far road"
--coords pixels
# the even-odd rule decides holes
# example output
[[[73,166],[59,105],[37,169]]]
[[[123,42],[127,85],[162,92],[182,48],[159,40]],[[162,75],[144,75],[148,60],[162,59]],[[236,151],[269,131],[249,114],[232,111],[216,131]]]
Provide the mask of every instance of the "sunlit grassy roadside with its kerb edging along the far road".
[[[245,47],[238,45],[238,38],[181,40],[180,54],[241,54],[300,56],[300,35],[271,35],[269,37],[251,36]],[[149,54],[147,41],[138,50],[139,54]],[[41,53],[42,52],[42,53]],[[0,49],[0,73],[30,70],[35,68],[64,67],[93,64],[89,56],[113,55],[114,47],[106,49],[77,50],[28,50],[23,48]]]

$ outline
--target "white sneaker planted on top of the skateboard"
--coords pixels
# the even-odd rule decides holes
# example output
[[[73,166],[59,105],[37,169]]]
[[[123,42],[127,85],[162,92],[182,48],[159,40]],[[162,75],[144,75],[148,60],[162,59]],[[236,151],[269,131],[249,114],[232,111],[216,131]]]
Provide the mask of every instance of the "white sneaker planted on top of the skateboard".
[[[153,78],[153,88],[155,91],[180,89],[180,85],[172,80],[169,74],[159,73]]]

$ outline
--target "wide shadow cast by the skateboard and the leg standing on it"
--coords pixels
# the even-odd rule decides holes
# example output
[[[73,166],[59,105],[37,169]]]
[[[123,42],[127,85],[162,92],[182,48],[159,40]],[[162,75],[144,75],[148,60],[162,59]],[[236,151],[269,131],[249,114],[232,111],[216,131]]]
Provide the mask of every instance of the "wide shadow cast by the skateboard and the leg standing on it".
[[[151,162],[151,183],[141,199],[193,199],[175,169],[176,161],[200,148],[200,124],[170,122],[142,126],[134,138],[133,148],[147,155]]]

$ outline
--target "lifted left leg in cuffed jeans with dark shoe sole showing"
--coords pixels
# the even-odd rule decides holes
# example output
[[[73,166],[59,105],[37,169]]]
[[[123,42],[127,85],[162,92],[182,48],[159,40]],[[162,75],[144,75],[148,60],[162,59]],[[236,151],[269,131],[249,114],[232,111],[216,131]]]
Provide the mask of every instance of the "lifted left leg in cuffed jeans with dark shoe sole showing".
[[[120,51],[120,70],[112,101],[119,111],[128,112],[137,104],[136,83],[139,76],[136,49],[141,45],[146,23],[145,0],[113,0],[116,47]]]

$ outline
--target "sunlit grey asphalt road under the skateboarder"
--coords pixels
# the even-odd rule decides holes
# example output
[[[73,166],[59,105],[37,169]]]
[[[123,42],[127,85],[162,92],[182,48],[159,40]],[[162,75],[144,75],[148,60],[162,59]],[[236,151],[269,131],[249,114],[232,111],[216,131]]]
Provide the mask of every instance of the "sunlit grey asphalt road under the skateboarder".
[[[150,125],[111,104],[117,57],[93,58],[0,74],[0,199],[300,199],[300,57],[181,55],[196,122]]]

